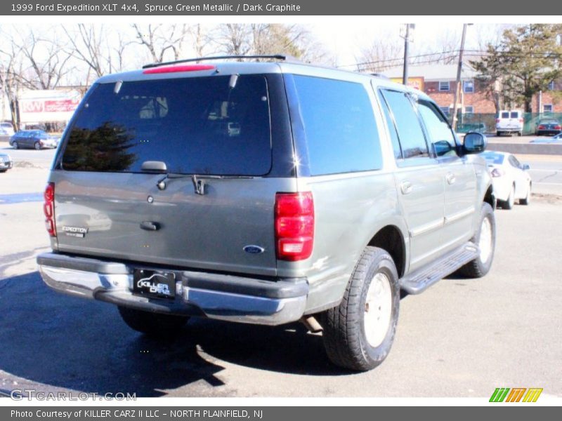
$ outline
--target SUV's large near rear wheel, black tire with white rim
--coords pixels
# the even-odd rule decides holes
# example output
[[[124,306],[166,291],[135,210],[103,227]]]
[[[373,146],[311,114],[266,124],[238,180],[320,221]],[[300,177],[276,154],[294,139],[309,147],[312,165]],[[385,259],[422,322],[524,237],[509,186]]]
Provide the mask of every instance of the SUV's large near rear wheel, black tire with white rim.
[[[391,255],[381,248],[365,248],[343,300],[322,314],[328,358],[351,370],[379,366],[390,352],[399,307],[398,272]]]

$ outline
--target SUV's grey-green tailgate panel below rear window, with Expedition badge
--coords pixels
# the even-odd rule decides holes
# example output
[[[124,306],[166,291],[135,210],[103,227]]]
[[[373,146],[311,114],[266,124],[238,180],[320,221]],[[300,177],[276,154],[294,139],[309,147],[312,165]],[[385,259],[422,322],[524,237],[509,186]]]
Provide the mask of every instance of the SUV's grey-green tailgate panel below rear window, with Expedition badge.
[[[174,267],[275,275],[273,206],[282,179],[205,180],[55,171],[55,218],[63,252]],[[274,181],[277,180],[277,181]],[[247,253],[246,246],[263,248]]]

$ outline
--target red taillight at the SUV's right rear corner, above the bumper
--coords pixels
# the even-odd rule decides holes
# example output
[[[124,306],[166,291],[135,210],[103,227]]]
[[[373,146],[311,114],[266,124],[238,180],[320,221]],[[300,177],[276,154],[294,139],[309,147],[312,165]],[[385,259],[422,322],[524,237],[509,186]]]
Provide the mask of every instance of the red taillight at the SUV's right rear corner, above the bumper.
[[[277,259],[305,260],[314,241],[312,192],[275,194],[275,243]]]

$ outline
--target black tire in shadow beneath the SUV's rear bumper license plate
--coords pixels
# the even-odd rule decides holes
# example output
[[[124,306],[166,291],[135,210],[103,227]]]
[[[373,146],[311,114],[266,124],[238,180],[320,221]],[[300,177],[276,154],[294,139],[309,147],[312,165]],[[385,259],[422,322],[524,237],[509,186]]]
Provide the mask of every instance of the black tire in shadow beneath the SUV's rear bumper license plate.
[[[150,336],[171,336],[178,333],[188,321],[188,316],[143,312],[119,306],[119,314],[129,328]]]

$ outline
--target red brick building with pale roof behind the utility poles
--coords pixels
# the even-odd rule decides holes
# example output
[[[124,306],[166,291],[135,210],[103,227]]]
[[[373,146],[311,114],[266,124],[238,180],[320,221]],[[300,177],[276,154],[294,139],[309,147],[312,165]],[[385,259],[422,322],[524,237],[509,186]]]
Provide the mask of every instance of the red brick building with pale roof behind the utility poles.
[[[402,83],[403,68],[393,67],[383,72],[393,81]],[[464,64],[461,74],[461,95],[458,109],[463,113],[495,114],[494,102],[486,98],[478,73],[470,65]],[[408,68],[408,83],[410,86],[424,91],[448,115],[452,112],[455,102],[457,81],[457,64],[454,65],[410,65]],[[548,91],[535,95],[532,100],[533,112],[562,112],[562,102],[553,98],[551,91],[561,91],[561,83],[551,83]],[[523,109],[523,107],[518,107]]]

